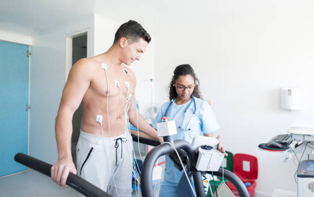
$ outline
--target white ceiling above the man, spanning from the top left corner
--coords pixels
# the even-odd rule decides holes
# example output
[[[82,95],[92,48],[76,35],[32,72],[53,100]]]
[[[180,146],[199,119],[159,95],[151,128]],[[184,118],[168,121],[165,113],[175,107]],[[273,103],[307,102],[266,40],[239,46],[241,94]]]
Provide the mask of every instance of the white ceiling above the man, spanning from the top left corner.
[[[2,1],[0,6],[0,30],[43,35],[52,29],[77,23],[95,12],[118,24],[134,19],[149,32],[164,33],[169,28],[203,23],[209,12],[214,15],[219,11],[213,9],[220,7],[215,4],[218,4],[217,0],[212,3],[188,0],[10,0]]]

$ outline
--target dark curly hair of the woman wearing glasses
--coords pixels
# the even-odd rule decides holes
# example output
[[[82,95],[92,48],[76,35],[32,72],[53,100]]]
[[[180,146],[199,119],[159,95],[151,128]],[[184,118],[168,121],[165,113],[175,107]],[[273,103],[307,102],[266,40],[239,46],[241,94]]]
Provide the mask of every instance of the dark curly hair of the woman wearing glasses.
[[[174,99],[178,94],[175,91],[174,83],[176,80],[178,80],[179,76],[190,74],[194,78],[195,87],[192,92],[193,96],[198,97],[202,99],[201,92],[199,90],[200,81],[198,80],[198,77],[195,75],[193,68],[189,64],[182,64],[180,66],[175,67],[173,71],[173,76],[170,82],[169,86],[169,100],[171,101]]]

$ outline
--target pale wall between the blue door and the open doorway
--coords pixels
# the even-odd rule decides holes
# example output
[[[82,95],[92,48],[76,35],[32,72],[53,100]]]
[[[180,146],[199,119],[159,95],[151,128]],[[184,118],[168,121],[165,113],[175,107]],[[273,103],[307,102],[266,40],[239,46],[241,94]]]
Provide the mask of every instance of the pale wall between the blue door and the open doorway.
[[[76,19],[71,25],[33,37],[29,153],[48,163],[57,161],[54,123],[65,85],[65,36],[89,28],[88,56],[93,54],[93,15]]]

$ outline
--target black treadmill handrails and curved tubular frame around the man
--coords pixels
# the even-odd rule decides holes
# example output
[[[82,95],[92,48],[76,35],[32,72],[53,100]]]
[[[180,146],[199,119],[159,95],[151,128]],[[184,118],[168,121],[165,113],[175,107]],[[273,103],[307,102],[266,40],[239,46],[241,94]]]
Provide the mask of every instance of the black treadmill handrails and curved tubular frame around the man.
[[[152,171],[153,171],[153,166],[156,160],[160,156],[169,154],[173,152],[174,150],[169,144],[166,144],[166,143],[160,144],[158,141],[147,139],[145,137],[138,137],[135,135],[132,135],[132,138],[134,142],[137,142],[139,139],[139,142],[142,144],[155,146],[153,149],[149,151],[149,153],[145,157],[145,160],[142,166],[142,171],[141,171],[142,196],[150,197],[150,196],[153,196]],[[177,150],[182,149],[186,152],[188,156],[188,160],[190,162],[190,169],[193,175],[195,192],[198,197],[205,197],[201,171],[197,171],[195,168],[198,155],[197,153],[195,153],[192,146],[183,140],[173,141],[172,136],[164,136],[164,141],[169,142],[172,145],[174,145],[174,147]],[[50,168],[52,167],[51,164],[48,164],[41,160],[37,160],[34,157],[31,157],[23,153],[17,153],[14,156],[14,160],[29,168],[32,168],[38,172],[41,172],[47,176],[50,176]],[[215,172],[207,171],[206,173],[213,173],[213,175],[217,175],[217,176],[224,175],[224,178],[229,180],[235,186],[235,188],[237,188],[239,195],[241,197],[249,197],[249,193],[244,183],[238,178],[237,175],[235,175],[231,171],[228,171],[226,169],[223,170],[220,168],[218,171],[215,171]],[[76,174],[73,174],[73,173],[69,173],[66,184],[72,187],[73,189],[75,189],[76,191],[82,193],[85,196],[90,196],[90,197],[91,196],[94,196],[94,197],[111,196],[107,192],[101,190],[100,188],[97,188],[96,186],[92,185],[88,181],[82,179],[80,176],[77,176]]]

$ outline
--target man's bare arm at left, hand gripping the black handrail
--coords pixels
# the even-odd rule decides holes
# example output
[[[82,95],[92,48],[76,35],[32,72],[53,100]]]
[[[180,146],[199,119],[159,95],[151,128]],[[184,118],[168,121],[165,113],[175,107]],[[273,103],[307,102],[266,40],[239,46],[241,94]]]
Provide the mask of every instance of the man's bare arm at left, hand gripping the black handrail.
[[[69,172],[76,174],[71,155],[72,117],[80,106],[90,84],[90,71],[86,69],[88,60],[75,63],[63,89],[62,99],[55,120],[55,136],[58,161],[51,167],[51,178],[60,186],[65,186]]]

